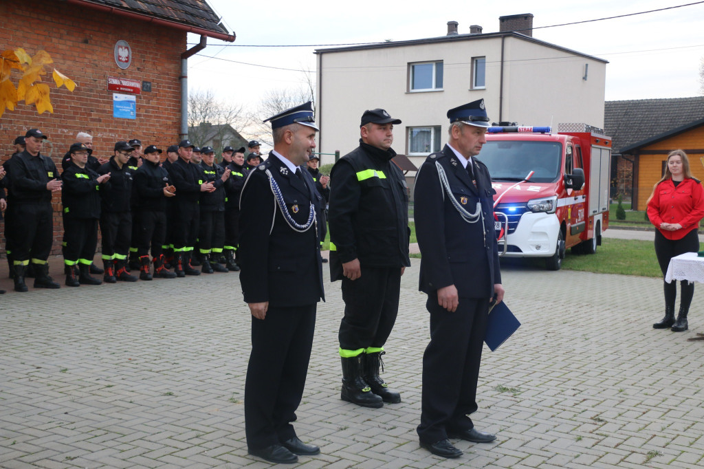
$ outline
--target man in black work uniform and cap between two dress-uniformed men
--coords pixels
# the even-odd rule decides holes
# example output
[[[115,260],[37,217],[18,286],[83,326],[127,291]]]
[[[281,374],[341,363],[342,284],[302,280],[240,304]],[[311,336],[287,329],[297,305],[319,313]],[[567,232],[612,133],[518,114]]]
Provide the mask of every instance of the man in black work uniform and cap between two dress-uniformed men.
[[[398,314],[408,258],[408,192],[396,152],[394,124],[383,109],[365,111],[360,146],[330,173],[330,280],[342,280],[339,330],[341,399],[365,407],[401,402],[379,377],[384,343]]]

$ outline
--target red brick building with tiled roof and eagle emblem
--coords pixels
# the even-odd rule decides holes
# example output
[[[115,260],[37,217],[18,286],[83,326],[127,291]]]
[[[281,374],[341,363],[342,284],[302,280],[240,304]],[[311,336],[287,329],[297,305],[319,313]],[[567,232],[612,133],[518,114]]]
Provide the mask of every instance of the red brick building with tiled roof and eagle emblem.
[[[201,50],[206,37],[234,41],[234,33],[219,22],[205,0],[0,1],[0,50],[22,47],[34,55],[43,49],[54,60],[42,80],[51,90],[54,113],[39,115],[23,102],[15,111],[5,111],[0,158],[5,161],[13,139],[34,127],[49,136],[42,154],[54,158],[59,168],[78,132],[93,135],[95,155],[105,158],[118,140],[138,138],[162,148],[178,142],[187,133],[187,126],[182,127],[187,96],[182,94],[182,59]],[[200,46],[190,51],[187,32],[201,35]],[[130,63],[124,68],[126,59]],[[52,67],[76,83],[73,93],[56,88]],[[132,88],[108,89],[109,78],[132,80]],[[113,117],[113,94],[130,96],[128,100],[134,96],[134,118]],[[54,201],[56,254],[62,232],[60,196]]]

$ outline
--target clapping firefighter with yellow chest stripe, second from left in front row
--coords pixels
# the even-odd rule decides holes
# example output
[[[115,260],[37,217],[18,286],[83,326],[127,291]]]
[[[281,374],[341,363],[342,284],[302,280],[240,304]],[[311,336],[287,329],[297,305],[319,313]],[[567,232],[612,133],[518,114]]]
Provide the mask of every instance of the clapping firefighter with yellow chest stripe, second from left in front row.
[[[88,168],[90,149],[85,144],[71,145],[68,154],[70,159],[61,175],[66,285],[99,285],[103,282],[91,277],[90,265],[98,244],[100,189],[110,179],[110,175],[98,175]]]

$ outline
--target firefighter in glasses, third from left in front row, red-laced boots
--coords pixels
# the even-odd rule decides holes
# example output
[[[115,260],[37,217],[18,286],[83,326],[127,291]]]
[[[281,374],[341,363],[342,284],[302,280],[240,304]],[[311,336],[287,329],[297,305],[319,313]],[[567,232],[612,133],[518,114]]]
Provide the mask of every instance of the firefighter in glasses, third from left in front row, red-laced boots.
[[[100,232],[103,235],[103,281],[115,283],[137,282],[137,277],[127,272],[127,255],[132,236],[132,170],[127,167],[134,149],[127,142],[117,142],[113,156],[102,165],[98,174],[110,174],[110,180],[101,187]]]

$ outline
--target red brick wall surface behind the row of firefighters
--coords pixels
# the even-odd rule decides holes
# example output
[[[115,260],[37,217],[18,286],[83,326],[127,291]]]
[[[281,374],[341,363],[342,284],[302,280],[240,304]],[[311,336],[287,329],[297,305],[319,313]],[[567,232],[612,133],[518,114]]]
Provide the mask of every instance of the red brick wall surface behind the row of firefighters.
[[[123,39],[132,48],[132,64],[118,68],[113,58],[115,42]],[[187,49],[186,33],[146,21],[127,20],[89,8],[55,0],[0,1],[0,50],[23,47],[28,54],[49,52],[43,82],[49,85],[54,113],[39,115],[20,103],[0,118],[0,158],[11,154],[12,142],[37,127],[49,136],[42,154],[51,156],[61,170],[61,157],[77,132],[93,135],[95,153],[108,158],[118,140],[139,138],[165,146],[174,144],[180,128],[180,55]],[[76,82],[73,93],[57,89],[53,68]],[[108,77],[152,83],[151,92],[137,95],[137,119],[113,118],[113,92]],[[15,85],[16,80],[13,80]],[[54,249],[61,252],[61,196],[54,196]],[[4,231],[4,227],[0,226]],[[4,246],[3,246],[4,248]],[[1,252],[4,252],[1,251]]]

